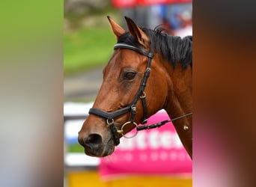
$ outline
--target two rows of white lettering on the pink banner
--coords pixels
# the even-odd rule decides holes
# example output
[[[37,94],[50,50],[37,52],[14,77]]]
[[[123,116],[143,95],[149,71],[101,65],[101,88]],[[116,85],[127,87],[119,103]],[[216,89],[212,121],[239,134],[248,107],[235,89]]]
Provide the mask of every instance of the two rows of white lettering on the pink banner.
[[[104,162],[177,162],[189,158],[176,132],[150,130],[121,138],[116,152]]]

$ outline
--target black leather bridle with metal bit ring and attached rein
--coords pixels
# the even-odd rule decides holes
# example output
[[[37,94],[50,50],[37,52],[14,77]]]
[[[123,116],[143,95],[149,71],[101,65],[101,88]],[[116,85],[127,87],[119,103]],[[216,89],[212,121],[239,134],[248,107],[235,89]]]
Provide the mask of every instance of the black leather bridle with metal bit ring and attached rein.
[[[155,124],[151,124],[151,125],[147,125],[147,126],[138,126],[138,124],[135,123],[135,121],[134,121],[136,110],[137,110],[135,105],[136,105],[136,102],[138,101],[138,99],[141,99],[142,106],[143,106],[143,120],[141,121],[141,123],[142,124],[147,123],[147,103],[146,103],[146,99],[145,99],[146,98],[146,94],[144,93],[144,88],[146,87],[147,79],[150,76],[150,66],[151,66],[151,61],[153,59],[152,47],[150,46],[150,52],[147,52],[144,49],[139,49],[139,48],[137,48],[135,46],[127,45],[126,43],[117,43],[117,44],[115,44],[114,49],[118,49],[118,48],[121,48],[121,49],[131,49],[132,51],[141,53],[141,55],[145,55],[145,56],[148,57],[148,61],[147,61],[147,68],[144,71],[144,77],[143,77],[143,79],[141,81],[141,85],[138,88],[138,91],[137,91],[137,93],[135,95],[135,98],[132,100],[132,102],[129,105],[127,105],[127,107],[121,108],[121,109],[119,109],[117,111],[112,111],[112,112],[106,112],[106,111],[100,110],[98,108],[90,108],[90,110],[89,110],[89,114],[95,114],[95,115],[97,115],[99,117],[103,117],[103,118],[106,119],[106,123],[109,125],[109,127],[111,129],[111,132],[112,132],[112,135],[114,137],[114,141],[115,141],[115,145],[116,146],[118,144],[120,144],[120,138],[118,137],[118,135],[121,134],[124,137],[126,137],[124,135],[124,130],[123,129],[124,129],[124,126],[127,126],[127,124],[133,124],[133,125],[136,126],[137,132],[135,133],[135,135],[137,135],[138,131],[141,131],[141,130],[144,130],[144,129],[153,129],[153,128],[162,126],[165,123],[168,123],[170,121],[178,120],[178,119],[180,119],[182,117],[186,117],[186,116],[192,114],[192,113],[185,114],[183,116],[176,117],[173,120],[164,120],[164,121],[162,121],[160,123],[155,123]],[[115,123],[114,118],[118,117],[118,116],[120,116],[122,114],[125,114],[125,113],[127,113],[129,111],[131,113],[129,121],[124,123],[123,126],[121,127],[121,129],[117,129],[115,124],[114,124]],[[132,137],[134,137],[135,135],[133,135]],[[129,137],[129,138],[132,138],[132,137]],[[128,137],[126,137],[126,138],[128,138]]]

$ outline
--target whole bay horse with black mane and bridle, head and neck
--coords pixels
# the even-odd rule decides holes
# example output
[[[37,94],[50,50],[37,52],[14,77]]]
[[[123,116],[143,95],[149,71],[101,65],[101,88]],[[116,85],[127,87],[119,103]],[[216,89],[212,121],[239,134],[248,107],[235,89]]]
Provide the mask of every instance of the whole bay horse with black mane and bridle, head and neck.
[[[142,28],[127,16],[129,31],[125,31],[107,17],[117,43],[79,131],[79,144],[88,156],[109,156],[121,137],[139,130],[138,123],[165,109],[192,159],[192,36],[181,38],[163,33],[163,28]]]

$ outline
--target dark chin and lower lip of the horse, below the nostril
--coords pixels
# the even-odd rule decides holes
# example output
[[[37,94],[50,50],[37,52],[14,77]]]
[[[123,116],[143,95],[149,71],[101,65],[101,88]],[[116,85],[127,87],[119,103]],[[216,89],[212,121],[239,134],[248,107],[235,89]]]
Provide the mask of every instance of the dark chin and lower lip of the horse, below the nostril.
[[[85,154],[94,157],[104,157],[111,155],[115,150],[115,144],[112,139],[110,139],[107,144],[103,144],[99,149],[93,150],[90,147],[85,147]]]

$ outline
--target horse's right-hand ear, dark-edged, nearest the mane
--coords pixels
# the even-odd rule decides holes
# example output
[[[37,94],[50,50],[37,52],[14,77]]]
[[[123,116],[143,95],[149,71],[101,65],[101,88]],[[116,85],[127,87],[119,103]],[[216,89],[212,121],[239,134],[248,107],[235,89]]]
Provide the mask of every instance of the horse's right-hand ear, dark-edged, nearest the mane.
[[[129,17],[125,16],[125,19],[127,20],[127,27],[129,29],[130,34],[132,34],[133,37],[135,37],[135,40],[138,41],[144,48],[149,49],[150,48],[150,39],[147,37],[147,34],[144,33],[144,31],[139,28],[135,22],[132,21]]]

